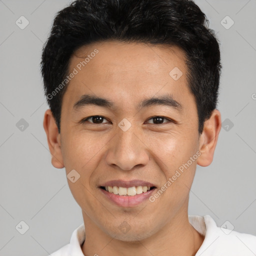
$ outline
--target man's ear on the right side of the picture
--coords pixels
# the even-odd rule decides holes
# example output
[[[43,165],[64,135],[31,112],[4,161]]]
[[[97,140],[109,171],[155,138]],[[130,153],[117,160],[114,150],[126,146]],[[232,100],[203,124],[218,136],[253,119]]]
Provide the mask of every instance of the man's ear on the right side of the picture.
[[[220,129],[221,115],[217,109],[214,109],[210,118],[204,121],[203,131],[199,138],[201,155],[197,158],[197,164],[200,166],[208,166],[212,162]]]

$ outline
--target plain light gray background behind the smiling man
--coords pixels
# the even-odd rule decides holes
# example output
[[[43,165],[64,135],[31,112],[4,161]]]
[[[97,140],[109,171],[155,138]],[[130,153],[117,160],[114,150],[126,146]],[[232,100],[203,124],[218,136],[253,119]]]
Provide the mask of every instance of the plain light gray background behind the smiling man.
[[[54,14],[69,2],[0,0],[0,255],[47,255],[82,223],[64,169],[50,163],[42,126],[48,107],[41,48]],[[218,109],[224,123],[212,164],[197,166],[189,214],[209,214],[218,226],[228,220],[227,227],[256,235],[256,1],[195,2],[221,43]],[[29,21],[24,29],[15,24],[21,15]],[[228,29],[223,25],[230,19],[221,24],[227,15],[234,21]],[[23,130],[21,118],[28,123]],[[21,220],[29,226],[23,235],[15,229]]]

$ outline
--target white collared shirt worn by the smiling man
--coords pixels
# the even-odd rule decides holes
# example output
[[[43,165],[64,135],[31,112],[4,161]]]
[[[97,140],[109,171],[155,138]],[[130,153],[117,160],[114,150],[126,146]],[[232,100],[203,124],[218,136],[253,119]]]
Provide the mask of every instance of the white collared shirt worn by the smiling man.
[[[256,255],[256,236],[226,229],[226,225],[217,227],[209,215],[204,217],[188,215],[188,220],[204,236],[203,243],[195,256]],[[73,231],[70,243],[51,253],[51,256],[84,256],[81,250],[84,239],[84,224],[81,224]]]

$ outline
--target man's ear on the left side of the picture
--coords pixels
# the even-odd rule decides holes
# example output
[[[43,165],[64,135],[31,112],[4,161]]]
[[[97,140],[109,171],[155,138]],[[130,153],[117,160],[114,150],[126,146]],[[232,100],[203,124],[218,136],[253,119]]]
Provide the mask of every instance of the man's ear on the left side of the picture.
[[[60,133],[50,109],[44,113],[43,128],[47,135],[47,142],[51,153],[51,164],[55,168],[63,168],[63,158],[60,148]]]

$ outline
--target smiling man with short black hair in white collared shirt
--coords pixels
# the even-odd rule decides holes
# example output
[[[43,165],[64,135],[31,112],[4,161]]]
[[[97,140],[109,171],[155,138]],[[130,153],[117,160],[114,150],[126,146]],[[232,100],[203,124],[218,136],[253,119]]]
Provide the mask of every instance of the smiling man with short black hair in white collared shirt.
[[[256,253],[255,236],[187,212],[221,128],[219,46],[205,23],[191,0],[77,0],[56,15],[43,126],[84,223],[51,255]]]

